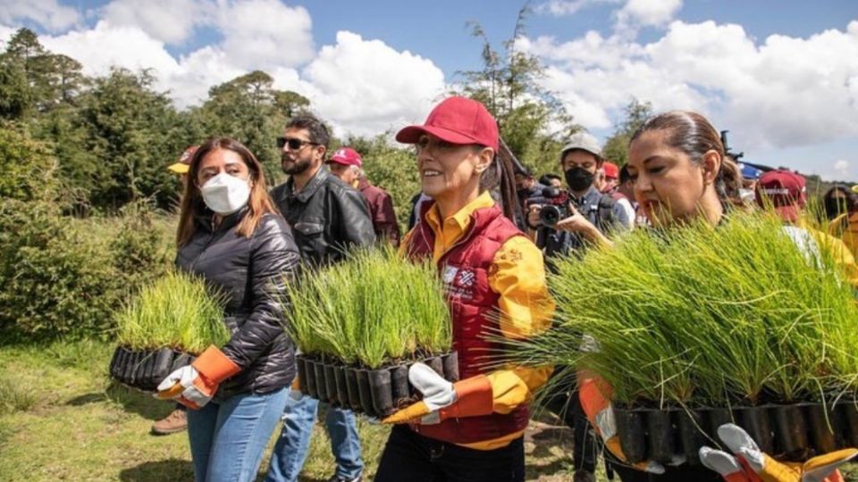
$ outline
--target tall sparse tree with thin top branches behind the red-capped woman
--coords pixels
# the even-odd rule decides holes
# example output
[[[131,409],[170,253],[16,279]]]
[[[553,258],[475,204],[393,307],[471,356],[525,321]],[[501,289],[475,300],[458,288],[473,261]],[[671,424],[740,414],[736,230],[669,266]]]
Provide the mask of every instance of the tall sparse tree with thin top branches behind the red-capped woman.
[[[492,112],[501,137],[518,160],[542,172],[554,171],[562,140],[581,128],[559,99],[540,86],[544,68],[539,59],[517,46],[530,12],[529,4],[519,10],[513,36],[501,52],[492,47],[479,23],[469,22],[472,35],[483,40],[483,68],[460,74],[466,80],[464,95]]]

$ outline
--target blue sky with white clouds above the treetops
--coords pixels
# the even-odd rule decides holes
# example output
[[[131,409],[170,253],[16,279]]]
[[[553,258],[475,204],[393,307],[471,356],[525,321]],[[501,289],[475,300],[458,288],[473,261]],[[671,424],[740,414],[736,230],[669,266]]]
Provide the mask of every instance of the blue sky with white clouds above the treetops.
[[[422,121],[459,71],[480,67],[483,24],[509,38],[523,0],[0,0],[89,74],[154,68],[175,103],[260,69],[308,96],[338,133]],[[693,109],[748,160],[858,180],[858,1],[534,0],[522,48],[545,87],[607,137],[632,96]]]

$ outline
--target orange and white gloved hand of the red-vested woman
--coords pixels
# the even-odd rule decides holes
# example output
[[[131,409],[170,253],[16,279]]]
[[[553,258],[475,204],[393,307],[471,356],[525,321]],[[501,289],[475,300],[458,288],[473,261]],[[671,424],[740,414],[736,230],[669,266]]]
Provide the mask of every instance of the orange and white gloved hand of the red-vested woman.
[[[424,363],[408,369],[408,381],[423,394],[423,400],[396,411],[382,423],[406,423],[419,419],[423,424],[441,423],[459,417],[492,413],[492,384],[485,375],[450,383]]]

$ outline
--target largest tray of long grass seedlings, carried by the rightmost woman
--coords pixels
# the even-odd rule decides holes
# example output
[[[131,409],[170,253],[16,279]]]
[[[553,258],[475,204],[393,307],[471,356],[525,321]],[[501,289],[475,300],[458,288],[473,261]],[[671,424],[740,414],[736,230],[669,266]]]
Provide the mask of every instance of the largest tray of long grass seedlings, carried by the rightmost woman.
[[[727,422],[787,460],[858,446],[858,308],[838,259],[769,213],[637,230],[559,260],[558,319],[507,356],[568,367],[554,393],[576,370],[607,382],[630,462],[699,463]]]

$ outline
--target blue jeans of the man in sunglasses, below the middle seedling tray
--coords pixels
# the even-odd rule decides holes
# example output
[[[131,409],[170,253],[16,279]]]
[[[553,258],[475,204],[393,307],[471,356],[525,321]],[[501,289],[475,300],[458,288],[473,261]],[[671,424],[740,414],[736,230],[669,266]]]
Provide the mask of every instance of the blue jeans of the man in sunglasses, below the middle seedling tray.
[[[356,478],[364,470],[364,461],[360,458],[355,414],[350,410],[332,408],[327,403],[322,405],[328,412],[324,425],[331,437],[331,452],[337,461],[336,475],[346,479]],[[266,482],[298,480],[298,474],[307,459],[318,406],[319,401],[315,398],[302,396],[300,400],[294,400],[290,397],[283,411],[283,428],[271,454]]]

